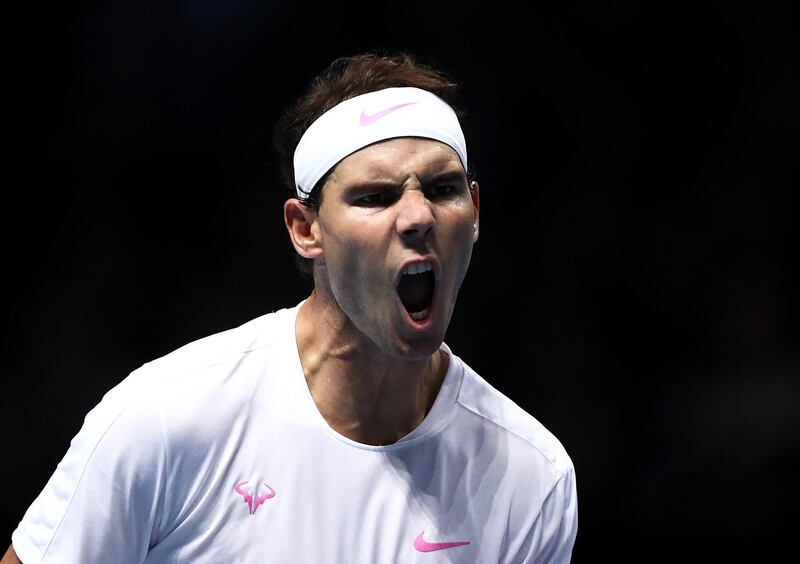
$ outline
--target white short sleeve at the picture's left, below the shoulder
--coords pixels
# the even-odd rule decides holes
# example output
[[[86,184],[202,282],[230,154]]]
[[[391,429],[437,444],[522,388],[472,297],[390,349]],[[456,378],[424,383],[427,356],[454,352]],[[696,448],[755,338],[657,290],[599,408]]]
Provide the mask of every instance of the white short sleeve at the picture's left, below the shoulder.
[[[157,408],[131,387],[121,384],[89,412],[14,531],[24,564],[127,564],[147,556],[167,453]]]

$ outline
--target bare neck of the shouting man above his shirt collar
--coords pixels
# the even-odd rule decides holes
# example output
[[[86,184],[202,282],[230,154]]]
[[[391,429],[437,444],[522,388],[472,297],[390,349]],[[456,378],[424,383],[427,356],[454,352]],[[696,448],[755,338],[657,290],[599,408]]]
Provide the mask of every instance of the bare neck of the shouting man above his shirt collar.
[[[447,372],[441,350],[422,360],[381,351],[316,291],[300,308],[295,331],[317,409],[332,429],[360,443],[392,444],[414,430]]]

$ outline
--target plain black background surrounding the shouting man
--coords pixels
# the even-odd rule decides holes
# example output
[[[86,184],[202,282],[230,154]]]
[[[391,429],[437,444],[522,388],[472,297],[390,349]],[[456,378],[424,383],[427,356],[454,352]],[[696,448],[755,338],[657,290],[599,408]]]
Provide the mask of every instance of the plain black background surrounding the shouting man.
[[[272,126],[392,48],[462,84],[481,238],[447,341],[567,447],[574,561],[791,547],[797,9],[540,4],[4,8],[0,544],[105,391],[305,297]]]

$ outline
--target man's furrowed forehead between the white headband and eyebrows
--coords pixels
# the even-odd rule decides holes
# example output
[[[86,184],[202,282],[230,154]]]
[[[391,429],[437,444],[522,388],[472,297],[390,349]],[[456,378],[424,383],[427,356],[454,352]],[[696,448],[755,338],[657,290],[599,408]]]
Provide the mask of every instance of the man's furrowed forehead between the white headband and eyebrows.
[[[329,177],[335,183],[355,180],[396,179],[411,174],[431,176],[464,172],[458,153],[433,139],[400,137],[373,143],[342,159]]]

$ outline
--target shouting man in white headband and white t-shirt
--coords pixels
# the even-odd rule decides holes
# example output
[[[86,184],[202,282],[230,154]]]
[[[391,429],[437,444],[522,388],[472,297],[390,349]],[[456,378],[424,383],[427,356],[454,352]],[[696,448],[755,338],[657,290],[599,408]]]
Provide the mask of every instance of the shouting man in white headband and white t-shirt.
[[[569,457],[443,343],[478,238],[453,91],[317,78],[276,128],[313,292],[112,389],[3,563],[569,561]]]

